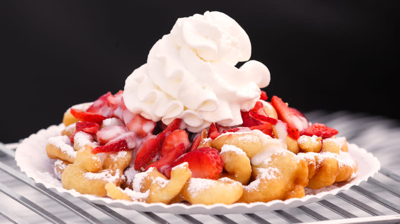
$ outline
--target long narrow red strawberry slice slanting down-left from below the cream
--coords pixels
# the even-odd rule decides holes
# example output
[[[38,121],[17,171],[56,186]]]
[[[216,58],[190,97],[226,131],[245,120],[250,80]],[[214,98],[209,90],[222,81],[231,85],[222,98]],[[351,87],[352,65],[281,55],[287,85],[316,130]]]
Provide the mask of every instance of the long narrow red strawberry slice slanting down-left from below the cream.
[[[135,169],[138,170],[139,168],[144,167],[148,162],[150,162],[161,150],[165,138],[172,131],[179,129],[179,127],[181,127],[181,119],[173,120],[166,129],[164,129],[157,135],[154,140],[151,140],[150,143],[144,144],[145,146],[143,148],[137,150],[134,162]]]

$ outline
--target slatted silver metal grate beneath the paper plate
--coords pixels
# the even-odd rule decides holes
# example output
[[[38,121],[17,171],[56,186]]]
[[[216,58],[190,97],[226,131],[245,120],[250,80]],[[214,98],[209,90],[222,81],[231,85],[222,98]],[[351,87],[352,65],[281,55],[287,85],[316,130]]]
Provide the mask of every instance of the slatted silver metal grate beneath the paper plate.
[[[16,166],[17,143],[0,143],[0,223],[400,223],[398,123],[345,111],[314,111],[307,117],[336,127],[349,142],[372,151],[383,168],[346,192],[296,208],[254,214],[173,215],[110,208],[49,190]]]

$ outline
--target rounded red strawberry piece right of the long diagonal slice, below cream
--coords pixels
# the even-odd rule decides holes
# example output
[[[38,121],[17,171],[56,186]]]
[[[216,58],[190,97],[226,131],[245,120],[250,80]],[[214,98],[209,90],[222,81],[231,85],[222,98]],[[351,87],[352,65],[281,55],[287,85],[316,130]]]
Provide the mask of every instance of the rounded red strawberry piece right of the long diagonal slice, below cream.
[[[161,157],[175,150],[175,148],[182,143],[184,144],[184,149],[186,151],[190,144],[188,133],[186,133],[185,130],[172,131],[172,133],[165,138],[163,146],[161,147]]]

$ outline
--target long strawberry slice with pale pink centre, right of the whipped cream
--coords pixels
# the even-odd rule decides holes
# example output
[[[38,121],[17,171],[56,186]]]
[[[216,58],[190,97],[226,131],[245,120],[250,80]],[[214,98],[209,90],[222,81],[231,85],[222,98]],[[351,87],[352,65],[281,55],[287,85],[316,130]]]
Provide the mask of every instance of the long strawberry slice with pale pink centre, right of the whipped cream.
[[[297,128],[299,131],[308,127],[306,117],[302,116],[301,113],[297,113],[298,110],[289,107],[281,98],[273,96],[271,98],[271,105],[275,108],[279,120]]]

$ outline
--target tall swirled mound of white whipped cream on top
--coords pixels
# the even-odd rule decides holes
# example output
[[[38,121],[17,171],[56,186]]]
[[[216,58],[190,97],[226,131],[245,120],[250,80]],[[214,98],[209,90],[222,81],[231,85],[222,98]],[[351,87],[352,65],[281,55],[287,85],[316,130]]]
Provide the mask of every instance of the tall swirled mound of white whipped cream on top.
[[[169,124],[180,118],[199,132],[215,122],[242,124],[270,82],[261,62],[250,60],[251,44],[235,20],[221,12],[179,18],[171,33],[151,48],[147,63],[126,79],[124,103],[135,114]],[[240,68],[235,65],[247,61]]]

